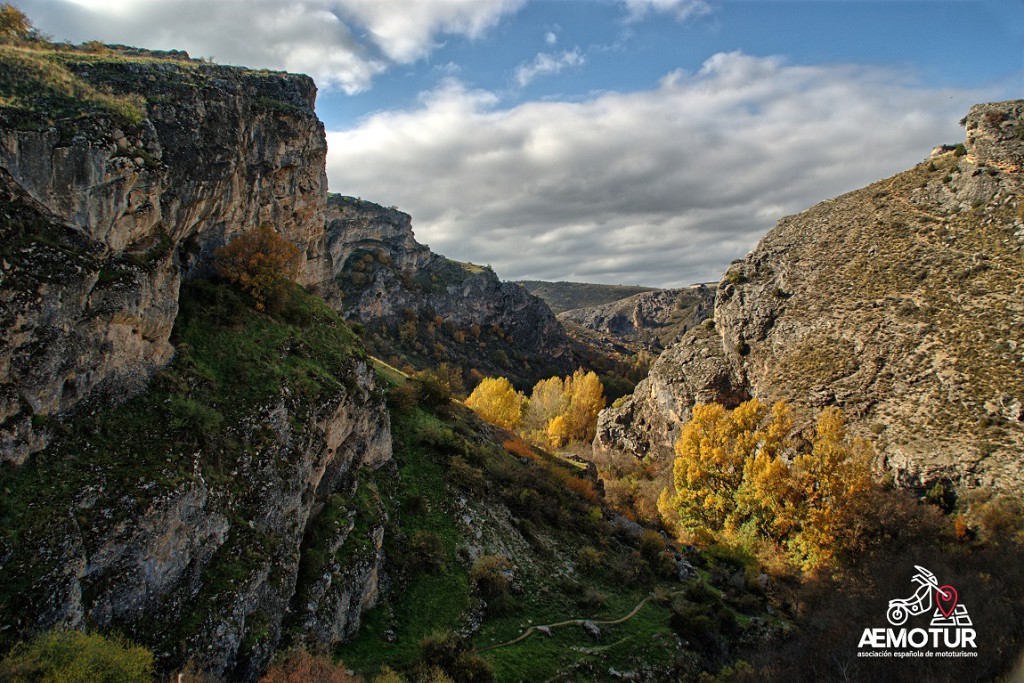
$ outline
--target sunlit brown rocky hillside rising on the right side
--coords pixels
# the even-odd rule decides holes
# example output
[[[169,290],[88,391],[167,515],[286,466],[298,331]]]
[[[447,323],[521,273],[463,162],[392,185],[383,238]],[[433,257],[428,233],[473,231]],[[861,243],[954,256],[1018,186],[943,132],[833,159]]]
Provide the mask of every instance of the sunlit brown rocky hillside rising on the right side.
[[[755,396],[839,405],[903,485],[1024,487],[1022,112],[976,106],[966,146],[779,221],[596,447],[669,457],[694,403]]]

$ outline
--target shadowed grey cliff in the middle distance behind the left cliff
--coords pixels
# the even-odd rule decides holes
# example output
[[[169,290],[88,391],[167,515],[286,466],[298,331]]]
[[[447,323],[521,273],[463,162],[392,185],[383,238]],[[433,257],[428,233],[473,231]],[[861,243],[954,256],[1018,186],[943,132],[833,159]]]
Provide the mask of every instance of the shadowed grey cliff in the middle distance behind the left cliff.
[[[434,254],[416,242],[408,214],[332,196],[326,245],[334,282],[325,296],[366,326],[380,355],[521,386],[571,372],[568,339],[542,300],[489,268]]]

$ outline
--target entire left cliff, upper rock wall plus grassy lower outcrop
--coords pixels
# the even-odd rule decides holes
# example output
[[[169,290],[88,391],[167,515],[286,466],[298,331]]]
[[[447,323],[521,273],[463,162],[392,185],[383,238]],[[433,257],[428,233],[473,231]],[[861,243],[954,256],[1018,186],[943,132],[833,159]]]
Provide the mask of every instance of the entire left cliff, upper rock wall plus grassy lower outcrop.
[[[393,476],[382,393],[333,311],[297,289],[287,319],[259,316],[183,280],[264,223],[300,246],[302,284],[331,279],[315,88],[36,48],[0,50],[0,88],[43,75],[0,108],[0,648],[88,625],[255,680],[286,638],[358,628]],[[140,117],[60,99],[53,69]]]

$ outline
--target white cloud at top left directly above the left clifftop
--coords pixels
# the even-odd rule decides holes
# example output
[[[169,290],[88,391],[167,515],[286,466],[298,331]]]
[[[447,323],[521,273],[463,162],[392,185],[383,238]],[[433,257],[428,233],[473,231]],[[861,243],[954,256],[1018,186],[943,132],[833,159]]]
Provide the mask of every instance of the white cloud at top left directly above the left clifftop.
[[[19,0],[57,39],[102,40],[312,76],[368,89],[444,35],[480,38],[525,0]]]

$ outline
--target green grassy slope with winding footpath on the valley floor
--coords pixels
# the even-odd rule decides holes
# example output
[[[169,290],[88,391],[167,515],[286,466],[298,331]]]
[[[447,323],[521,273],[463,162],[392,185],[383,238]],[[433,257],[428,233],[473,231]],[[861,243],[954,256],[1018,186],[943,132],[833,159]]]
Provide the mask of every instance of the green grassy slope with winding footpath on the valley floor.
[[[700,568],[680,581],[678,548],[615,521],[579,464],[458,403],[409,401],[415,381],[382,370],[400,473],[389,590],[336,650],[345,666],[417,680],[444,650],[461,653],[441,666],[457,681],[492,680],[460,667],[498,681],[675,680],[718,672],[738,642],[782,628],[742,560],[687,554]]]

